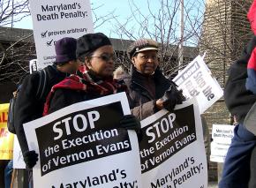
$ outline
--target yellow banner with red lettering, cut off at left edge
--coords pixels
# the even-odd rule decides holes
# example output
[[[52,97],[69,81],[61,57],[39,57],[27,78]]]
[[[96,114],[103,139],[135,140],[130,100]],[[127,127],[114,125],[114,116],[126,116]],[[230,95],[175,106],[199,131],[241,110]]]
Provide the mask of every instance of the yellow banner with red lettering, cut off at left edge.
[[[8,132],[7,117],[9,103],[0,104],[0,160],[12,159],[14,135]]]

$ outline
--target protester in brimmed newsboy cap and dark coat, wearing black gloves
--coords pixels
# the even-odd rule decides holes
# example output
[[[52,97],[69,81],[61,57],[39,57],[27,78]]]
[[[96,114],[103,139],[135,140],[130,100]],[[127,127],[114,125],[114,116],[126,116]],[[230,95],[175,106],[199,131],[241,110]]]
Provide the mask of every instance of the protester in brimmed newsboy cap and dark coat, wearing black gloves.
[[[184,101],[174,82],[166,79],[159,68],[158,44],[149,39],[134,41],[128,48],[132,61],[131,78],[124,79],[131,97],[132,114],[141,119],[160,109],[174,109]]]

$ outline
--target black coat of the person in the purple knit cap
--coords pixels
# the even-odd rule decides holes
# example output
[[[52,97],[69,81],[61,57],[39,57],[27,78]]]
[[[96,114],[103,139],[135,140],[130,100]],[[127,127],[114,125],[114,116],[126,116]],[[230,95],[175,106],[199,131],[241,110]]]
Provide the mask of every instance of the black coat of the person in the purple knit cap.
[[[44,70],[46,71],[47,81],[46,89],[44,90],[41,99],[38,99],[35,96],[40,81],[39,72],[35,71],[34,73],[27,75],[23,80],[14,108],[15,131],[23,153],[28,150],[23,124],[42,117],[43,104],[46,101],[46,97],[49,94],[51,87],[68,76],[68,73],[58,71],[56,65],[49,65],[44,68]]]

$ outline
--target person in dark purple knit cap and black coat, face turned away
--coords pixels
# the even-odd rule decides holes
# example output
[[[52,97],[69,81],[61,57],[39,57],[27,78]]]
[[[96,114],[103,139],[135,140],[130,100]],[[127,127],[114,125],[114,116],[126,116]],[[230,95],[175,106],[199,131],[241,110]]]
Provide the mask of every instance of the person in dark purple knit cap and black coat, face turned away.
[[[38,154],[28,150],[23,124],[41,117],[51,87],[79,69],[76,45],[76,39],[71,37],[56,41],[56,62],[44,68],[44,73],[35,71],[23,80],[15,105],[14,124],[27,169],[34,167]],[[39,90],[42,91],[41,97],[36,96]]]

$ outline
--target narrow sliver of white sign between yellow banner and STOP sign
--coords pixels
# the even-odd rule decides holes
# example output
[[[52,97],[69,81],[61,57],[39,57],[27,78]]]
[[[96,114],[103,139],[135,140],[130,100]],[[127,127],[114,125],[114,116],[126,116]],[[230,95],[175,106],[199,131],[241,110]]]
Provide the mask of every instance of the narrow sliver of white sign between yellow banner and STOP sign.
[[[21,148],[17,136],[14,136],[13,142],[13,169],[26,169],[26,164],[23,160]]]

